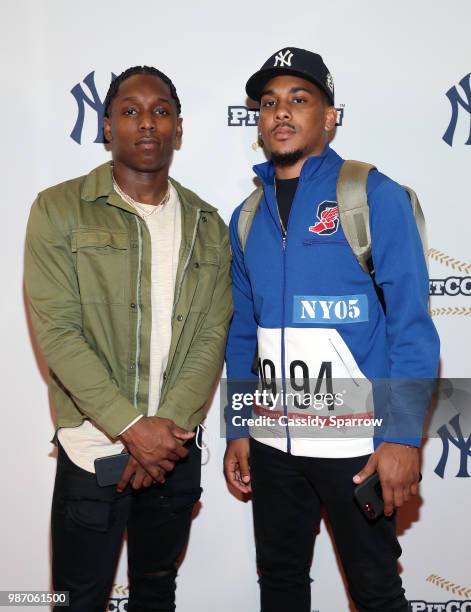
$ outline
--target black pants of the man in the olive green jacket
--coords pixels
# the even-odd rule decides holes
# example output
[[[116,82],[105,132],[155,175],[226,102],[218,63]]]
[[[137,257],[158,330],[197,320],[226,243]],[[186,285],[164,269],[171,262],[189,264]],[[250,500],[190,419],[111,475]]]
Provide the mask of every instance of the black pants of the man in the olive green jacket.
[[[71,612],[107,609],[124,531],[128,533],[128,612],[175,610],[177,559],[199,499],[201,452],[190,443],[165,484],[117,493],[99,487],[59,445],[52,501],[52,577],[70,592]],[[57,608],[61,610],[62,608]]]

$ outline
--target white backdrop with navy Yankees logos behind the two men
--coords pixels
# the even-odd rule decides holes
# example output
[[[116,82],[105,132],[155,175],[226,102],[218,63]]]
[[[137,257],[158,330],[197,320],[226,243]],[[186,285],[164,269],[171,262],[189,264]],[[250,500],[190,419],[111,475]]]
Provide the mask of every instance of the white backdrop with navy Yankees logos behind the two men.
[[[108,158],[95,141],[113,73],[149,64],[171,76],[184,117],[183,148],[175,155],[172,174],[218,206],[228,221],[252,187],[251,166],[262,161],[261,151],[251,146],[256,118],[244,109],[246,79],[283,46],[320,52],[334,76],[340,111],[333,146],[344,157],[376,164],[420,196],[432,249],[431,306],[442,339],[441,375],[469,376],[467,0],[16,0],[3,3],[1,13],[6,249],[0,589],[45,590],[50,581],[53,421],[46,369],[25,315],[26,220],[39,190],[87,173]],[[469,410],[469,402],[464,403]],[[421,498],[398,519],[402,577],[414,611],[471,610],[470,432],[456,419],[454,427],[444,425],[442,438],[425,445]],[[218,397],[206,439],[204,495],[180,570],[178,607],[183,612],[255,611],[251,507],[235,499],[223,479]],[[313,610],[351,609],[325,523],[312,578]],[[126,610],[126,586],[123,555],[109,610]]]

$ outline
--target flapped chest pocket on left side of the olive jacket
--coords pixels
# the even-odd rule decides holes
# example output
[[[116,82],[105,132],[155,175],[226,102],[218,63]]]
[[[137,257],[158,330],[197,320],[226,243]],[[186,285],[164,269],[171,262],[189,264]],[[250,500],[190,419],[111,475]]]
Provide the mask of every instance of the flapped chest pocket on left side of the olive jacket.
[[[129,237],[106,230],[72,234],[82,304],[124,304],[129,285]]]

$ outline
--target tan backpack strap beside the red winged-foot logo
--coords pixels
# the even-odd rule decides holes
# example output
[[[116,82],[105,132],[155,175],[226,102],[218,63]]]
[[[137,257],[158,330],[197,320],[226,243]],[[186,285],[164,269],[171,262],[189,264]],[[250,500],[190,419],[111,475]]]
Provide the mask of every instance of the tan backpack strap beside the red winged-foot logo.
[[[364,162],[344,161],[337,179],[337,203],[340,223],[353,254],[363,270],[370,274],[370,217],[366,182],[375,166]]]

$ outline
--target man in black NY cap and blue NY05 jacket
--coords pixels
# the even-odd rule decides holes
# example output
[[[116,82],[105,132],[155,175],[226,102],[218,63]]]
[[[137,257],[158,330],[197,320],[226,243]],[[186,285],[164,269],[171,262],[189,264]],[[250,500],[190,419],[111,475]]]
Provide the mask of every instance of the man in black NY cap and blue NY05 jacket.
[[[323,508],[357,609],[406,612],[394,511],[418,492],[427,394],[404,402],[391,384],[384,406],[374,401],[375,414],[388,416],[385,427],[335,437],[328,427],[297,429],[295,417],[308,410],[291,405],[285,392],[301,380],[304,391],[327,389],[337,400],[345,381],[436,376],[439,340],[412,208],[400,185],[375,169],[367,174],[373,281],[342,227],[337,184],[344,162],[329,146],[334,83],[321,56],[281,49],[246,91],[260,102],[259,144],[269,161],[254,167],[263,188],[256,208],[251,196],[230,224],[227,374],[236,385],[260,379],[277,399],[255,405],[258,422],[233,418],[229,406],[224,467],[231,485],[253,494],[261,610],[311,609],[309,571]],[[331,419],[340,409],[332,401],[320,414]],[[375,472],[384,515],[369,521],[354,489]]]

